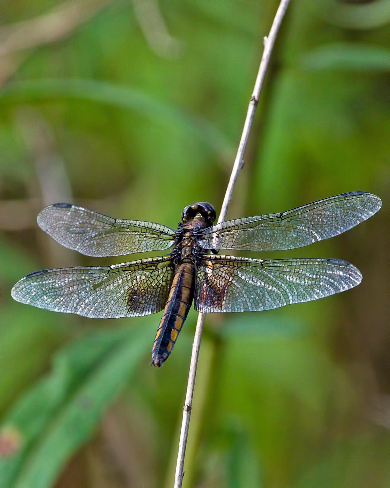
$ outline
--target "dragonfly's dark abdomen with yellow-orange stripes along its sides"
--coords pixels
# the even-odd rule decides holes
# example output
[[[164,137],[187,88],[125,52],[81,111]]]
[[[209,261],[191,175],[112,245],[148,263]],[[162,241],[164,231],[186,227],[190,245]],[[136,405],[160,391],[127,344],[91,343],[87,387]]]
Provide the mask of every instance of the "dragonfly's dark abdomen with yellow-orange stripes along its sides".
[[[157,329],[152,349],[152,365],[162,366],[171,354],[194,300],[194,289],[195,265],[179,264]]]

